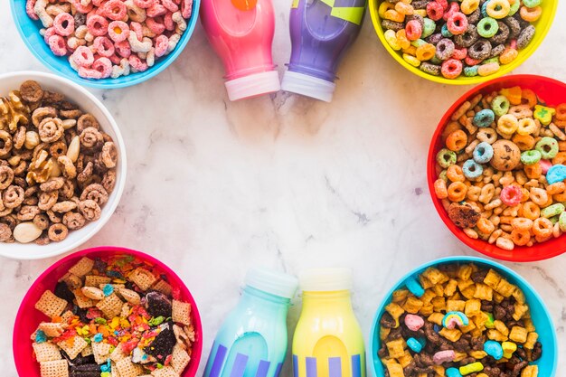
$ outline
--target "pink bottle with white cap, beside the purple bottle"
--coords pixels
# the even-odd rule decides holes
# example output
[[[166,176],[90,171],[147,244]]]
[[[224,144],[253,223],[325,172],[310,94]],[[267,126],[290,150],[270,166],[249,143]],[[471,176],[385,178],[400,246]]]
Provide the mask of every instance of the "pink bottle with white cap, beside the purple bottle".
[[[203,0],[201,23],[224,62],[231,100],[280,89],[271,56],[275,33],[271,0]]]

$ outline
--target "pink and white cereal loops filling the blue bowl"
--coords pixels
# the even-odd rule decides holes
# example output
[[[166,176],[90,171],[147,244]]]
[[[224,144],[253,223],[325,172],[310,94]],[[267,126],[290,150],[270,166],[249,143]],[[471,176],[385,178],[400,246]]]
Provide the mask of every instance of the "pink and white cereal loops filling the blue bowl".
[[[57,56],[86,79],[146,71],[175,50],[193,0],[27,0],[40,33]]]

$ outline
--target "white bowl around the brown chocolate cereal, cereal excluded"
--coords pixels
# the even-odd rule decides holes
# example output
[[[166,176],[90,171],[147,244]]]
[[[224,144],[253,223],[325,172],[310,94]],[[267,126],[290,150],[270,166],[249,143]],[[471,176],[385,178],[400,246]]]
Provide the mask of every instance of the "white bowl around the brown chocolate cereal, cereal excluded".
[[[10,90],[18,89],[25,80],[37,81],[45,90],[54,90],[63,94],[67,99],[73,101],[83,111],[92,114],[99,120],[102,130],[106,132],[115,142],[118,150],[118,165],[116,166],[116,184],[112,193],[108,196],[108,202],[102,206],[98,221],[91,221],[76,231],[69,231],[65,240],[52,242],[48,245],[37,245],[35,243],[3,243],[0,246],[0,256],[13,259],[42,259],[53,257],[72,250],[93,237],[116,210],[124,185],[126,183],[126,147],[118,129],[116,121],[108,109],[94,97],[88,90],[80,85],[63,79],[51,73],[22,71],[0,75],[0,97],[8,95]]]

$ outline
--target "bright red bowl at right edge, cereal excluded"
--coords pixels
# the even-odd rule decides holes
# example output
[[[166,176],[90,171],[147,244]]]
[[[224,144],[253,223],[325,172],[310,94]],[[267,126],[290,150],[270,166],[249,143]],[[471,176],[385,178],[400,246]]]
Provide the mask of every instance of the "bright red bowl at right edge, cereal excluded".
[[[470,248],[495,259],[503,259],[514,262],[531,262],[536,260],[550,259],[561,255],[566,251],[566,242],[564,236],[557,239],[547,240],[546,242],[534,244],[532,247],[517,247],[514,250],[507,251],[486,242],[485,240],[473,240],[458,228],[449,218],[448,212],[442,206],[441,201],[434,194],[434,181],[437,179],[436,174],[436,155],[442,149],[442,131],[448,125],[450,117],[464,102],[472,99],[479,93],[487,94],[494,90],[511,88],[520,86],[525,89],[534,90],[538,97],[544,100],[550,106],[557,106],[566,102],[566,84],[561,81],[549,79],[547,77],[535,75],[513,75],[505,76],[499,79],[487,81],[484,84],[476,86],[469,90],[460,99],[458,99],[451,108],[448,109],[444,117],[440,120],[429,147],[429,162],[427,165],[427,176],[429,180],[429,193],[432,203],[439,212],[440,218],[448,229],[454,233],[459,240],[464,242]]]

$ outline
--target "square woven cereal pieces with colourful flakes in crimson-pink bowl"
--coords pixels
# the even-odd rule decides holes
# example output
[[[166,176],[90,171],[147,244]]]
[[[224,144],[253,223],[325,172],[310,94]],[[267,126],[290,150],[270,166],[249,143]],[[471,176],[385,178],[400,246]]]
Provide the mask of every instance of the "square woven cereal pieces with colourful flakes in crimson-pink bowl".
[[[35,308],[42,377],[179,376],[191,360],[191,305],[131,255],[82,258]],[[56,371],[53,371],[56,369]]]

